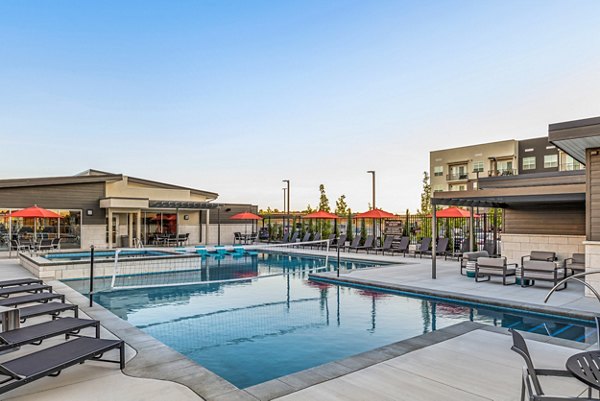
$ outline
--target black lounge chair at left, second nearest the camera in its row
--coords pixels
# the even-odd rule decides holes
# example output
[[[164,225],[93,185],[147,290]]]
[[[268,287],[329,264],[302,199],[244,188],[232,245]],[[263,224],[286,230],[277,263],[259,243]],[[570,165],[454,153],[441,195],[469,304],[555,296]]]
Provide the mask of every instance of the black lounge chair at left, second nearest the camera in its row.
[[[100,338],[100,322],[91,319],[76,319],[65,317],[54,319],[49,322],[33,324],[20,329],[8,330],[0,333],[0,352],[7,349],[20,347],[22,345],[40,345],[47,338],[65,334],[77,336],[82,329],[94,327],[96,338]]]

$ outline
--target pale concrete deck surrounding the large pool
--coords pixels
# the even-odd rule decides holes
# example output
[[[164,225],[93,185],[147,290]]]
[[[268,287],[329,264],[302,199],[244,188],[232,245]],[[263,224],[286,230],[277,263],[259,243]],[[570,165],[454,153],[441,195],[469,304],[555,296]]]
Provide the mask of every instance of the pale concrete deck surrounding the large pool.
[[[322,254],[314,251],[313,254]],[[342,272],[344,281],[390,289],[435,292],[450,298],[518,303],[546,308],[543,298],[550,288],[503,287],[497,280],[474,283],[458,273],[458,262],[438,260],[438,279],[430,277],[429,259],[374,257],[343,254],[356,259],[400,262],[397,266]],[[0,279],[29,276],[16,260],[0,260]],[[335,273],[319,277],[336,279]],[[124,372],[111,364],[86,363],[57,378],[44,378],[1,399],[14,401],[70,400],[517,400],[522,360],[510,351],[505,329],[466,322],[360,355],[331,362],[240,390],[201,366],[147,336],[104,308],[87,307],[86,298],[59,282],[56,290],[81,306],[82,315],[101,319],[102,335],[117,335],[132,347]],[[462,294],[462,295],[461,295]],[[462,298],[461,298],[462,299]],[[562,314],[588,316],[598,311],[595,299],[583,296],[581,285],[570,285],[553,295],[550,306]],[[42,319],[42,318],[38,318]],[[32,320],[32,322],[35,322]],[[28,324],[30,322],[28,321]],[[528,345],[541,367],[563,368],[566,358],[586,346],[571,341],[529,334]],[[42,347],[61,339],[45,341]],[[29,352],[32,346],[0,355],[0,362]],[[573,379],[545,383],[551,394],[576,395],[585,387]],[[178,383],[183,383],[178,384]],[[547,387],[547,388],[546,388]]]

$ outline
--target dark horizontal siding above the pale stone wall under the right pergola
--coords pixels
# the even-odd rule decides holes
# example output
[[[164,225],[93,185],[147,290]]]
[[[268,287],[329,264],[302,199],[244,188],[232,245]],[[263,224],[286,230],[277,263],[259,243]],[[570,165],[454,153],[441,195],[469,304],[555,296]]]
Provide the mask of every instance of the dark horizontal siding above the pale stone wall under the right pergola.
[[[585,235],[583,203],[539,204],[504,210],[507,234]]]

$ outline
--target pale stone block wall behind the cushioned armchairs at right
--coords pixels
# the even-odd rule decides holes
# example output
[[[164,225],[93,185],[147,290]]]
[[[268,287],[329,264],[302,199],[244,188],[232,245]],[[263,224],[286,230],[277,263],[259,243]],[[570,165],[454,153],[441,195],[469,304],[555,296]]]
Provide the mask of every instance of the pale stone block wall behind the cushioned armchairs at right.
[[[574,253],[584,253],[585,235],[502,234],[501,254],[508,263],[521,263],[521,257],[531,251],[556,252],[559,260]],[[599,264],[600,266],[600,264]]]

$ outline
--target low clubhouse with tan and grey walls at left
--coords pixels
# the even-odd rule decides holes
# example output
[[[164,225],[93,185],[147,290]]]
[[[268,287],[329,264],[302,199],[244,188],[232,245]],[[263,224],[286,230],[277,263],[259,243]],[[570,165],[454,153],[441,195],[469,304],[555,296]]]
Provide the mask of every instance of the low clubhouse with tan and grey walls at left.
[[[11,239],[61,238],[87,248],[153,245],[158,235],[187,234],[190,244],[231,241],[245,225],[230,217],[256,212],[250,204],[219,204],[218,194],[147,179],[88,170],[75,176],[0,180],[0,247]],[[32,205],[60,219],[27,219],[10,213]]]

